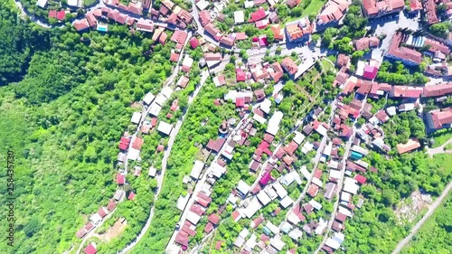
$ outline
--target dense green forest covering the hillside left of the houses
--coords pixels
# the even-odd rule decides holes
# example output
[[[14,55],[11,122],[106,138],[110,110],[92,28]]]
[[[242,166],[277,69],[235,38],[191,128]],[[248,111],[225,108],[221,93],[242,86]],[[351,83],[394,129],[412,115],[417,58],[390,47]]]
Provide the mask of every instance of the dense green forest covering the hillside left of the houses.
[[[132,36],[125,26],[111,25],[104,35],[81,36],[72,27],[44,30],[22,21],[14,8],[0,3],[0,158],[4,164],[7,150],[14,151],[16,231],[14,249],[5,240],[0,248],[61,253],[78,246],[75,232],[116,190],[118,140],[136,110],[130,106],[147,91],[160,90],[172,71],[174,45],[151,58],[145,54],[152,44],[148,36]],[[0,174],[6,186],[5,171]],[[116,248],[146,221],[155,181],[145,179],[130,179],[137,198],[118,205],[129,227]],[[6,226],[0,226],[2,239]]]

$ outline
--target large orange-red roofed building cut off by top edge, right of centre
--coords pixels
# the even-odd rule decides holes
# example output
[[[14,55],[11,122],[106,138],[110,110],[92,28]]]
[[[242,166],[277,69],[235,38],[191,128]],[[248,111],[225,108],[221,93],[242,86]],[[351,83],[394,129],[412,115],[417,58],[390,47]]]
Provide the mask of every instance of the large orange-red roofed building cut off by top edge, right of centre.
[[[363,14],[371,18],[400,13],[404,7],[403,0],[363,0]]]

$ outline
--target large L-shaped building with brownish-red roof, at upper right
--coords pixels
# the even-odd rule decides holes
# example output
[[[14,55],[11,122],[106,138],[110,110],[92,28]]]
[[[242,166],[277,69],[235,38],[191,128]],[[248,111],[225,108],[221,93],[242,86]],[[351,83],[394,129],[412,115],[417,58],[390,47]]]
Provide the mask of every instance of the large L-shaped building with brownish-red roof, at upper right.
[[[390,49],[386,53],[386,57],[395,61],[401,61],[409,66],[417,66],[422,61],[422,54],[410,48],[401,46],[405,35],[402,33],[394,33],[391,39]]]

